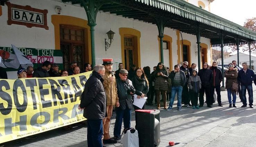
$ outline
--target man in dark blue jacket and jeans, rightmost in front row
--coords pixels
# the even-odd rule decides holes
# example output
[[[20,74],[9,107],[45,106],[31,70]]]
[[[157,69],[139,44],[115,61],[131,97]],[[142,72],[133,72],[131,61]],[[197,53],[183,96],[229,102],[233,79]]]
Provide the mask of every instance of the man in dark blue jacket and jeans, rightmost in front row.
[[[247,68],[247,63],[242,63],[243,69],[238,72],[238,83],[241,83],[241,91],[242,91],[242,108],[247,107],[246,101],[246,90],[249,95],[249,106],[253,108],[253,85],[252,82],[255,80],[255,74],[253,70]]]

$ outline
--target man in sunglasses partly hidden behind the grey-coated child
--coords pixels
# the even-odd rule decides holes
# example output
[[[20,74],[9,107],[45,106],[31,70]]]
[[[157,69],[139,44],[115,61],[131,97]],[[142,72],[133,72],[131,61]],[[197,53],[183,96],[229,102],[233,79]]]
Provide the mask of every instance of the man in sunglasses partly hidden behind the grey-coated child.
[[[180,70],[183,71],[186,75],[186,79],[188,81],[188,78],[190,76],[189,70],[188,70],[188,62],[185,61],[183,62],[182,66],[180,67]],[[186,84],[183,86],[182,88],[182,95],[181,95],[181,103],[184,102],[184,107],[190,107],[190,97],[188,94],[188,83],[186,82]]]

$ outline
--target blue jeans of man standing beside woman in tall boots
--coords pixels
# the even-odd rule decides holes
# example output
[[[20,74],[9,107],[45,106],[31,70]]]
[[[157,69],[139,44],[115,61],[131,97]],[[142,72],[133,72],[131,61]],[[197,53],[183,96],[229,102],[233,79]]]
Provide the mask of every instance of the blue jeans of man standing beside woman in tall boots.
[[[177,93],[178,96],[178,103],[177,103],[177,107],[181,107],[181,94],[182,94],[182,86],[172,86],[172,92],[169,95],[170,98],[170,103],[169,103],[169,107],[172,108],[173,102],[174,102],[174,98],[175,95]]]

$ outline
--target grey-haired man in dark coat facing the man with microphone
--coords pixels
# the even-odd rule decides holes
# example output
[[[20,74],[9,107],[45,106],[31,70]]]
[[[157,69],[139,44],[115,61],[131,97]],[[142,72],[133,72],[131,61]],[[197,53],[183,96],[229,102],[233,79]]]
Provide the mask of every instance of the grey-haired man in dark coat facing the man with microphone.
[[[87,143],[88,147],[103,147],[102,119],[106,116],[106,93],[103,87],[102,76],[105,74],[105,66],[95,65],[92,76],[85,83],[79,107],[84,109],[84,117],[87,118]]]

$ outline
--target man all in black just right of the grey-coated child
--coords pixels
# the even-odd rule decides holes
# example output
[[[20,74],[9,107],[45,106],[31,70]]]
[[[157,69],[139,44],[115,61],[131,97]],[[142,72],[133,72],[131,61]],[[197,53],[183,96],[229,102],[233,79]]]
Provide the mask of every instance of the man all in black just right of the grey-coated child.
[[[212,108],[211,100],[211,83],[213,82],[213,73],[212,70],[208,69],[208,63],[203,64],[203,69],[198,71],[198,76],[200,77],[202,86],[199,92],[199,107],[204,105],[204,93],[206,95],[206,104],[207,107]]]

